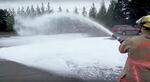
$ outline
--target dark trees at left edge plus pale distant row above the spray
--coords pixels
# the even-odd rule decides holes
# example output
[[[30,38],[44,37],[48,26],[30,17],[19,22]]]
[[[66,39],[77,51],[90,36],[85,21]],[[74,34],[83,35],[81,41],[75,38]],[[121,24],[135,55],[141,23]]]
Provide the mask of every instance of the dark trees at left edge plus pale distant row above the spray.
[[[94,5],[94,3],[93,3]],[[94,6],[95,8],[95,6]],[[15,16],[22,16],[22,17],[36,17],[43,14],[53,14],[55,12],[61,13],[61,12],[71,13],[69,9],[63,10],[61,6],[58,7],[57,11],[54,11],[50,7],[50,3],[47,3],[47,6],[45,7],[43,3],[41,3],[41,6],[37,5],[36,8],[31,5],[25,7],[19,7],[17,10],[14,8],[9,9],[0,9],[0,31],[14,31],[13,25],[15,23],[14,17]],[[79,10],[77,7],[74,8],[73,11],[74,14],[79,14]],[[81,14],[83,16],[88,17],[88,12],[86,8],[83,6]],[[90,13],[89,13],[90,14]],[[91,15],[90,15],[91,16]]]

